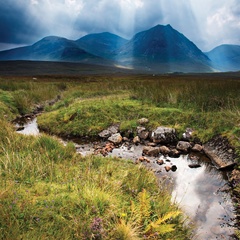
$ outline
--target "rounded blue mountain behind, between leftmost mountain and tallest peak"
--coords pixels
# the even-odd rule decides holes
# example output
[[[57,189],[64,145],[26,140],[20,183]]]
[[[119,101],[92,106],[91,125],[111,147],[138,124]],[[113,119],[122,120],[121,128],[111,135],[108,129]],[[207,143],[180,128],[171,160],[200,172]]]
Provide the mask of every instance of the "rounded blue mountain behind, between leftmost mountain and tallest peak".
[[[112,53],[127,42],[128,40],[109,32],[88,34],[76,40],[78,46],[87,52],[110,59]]]

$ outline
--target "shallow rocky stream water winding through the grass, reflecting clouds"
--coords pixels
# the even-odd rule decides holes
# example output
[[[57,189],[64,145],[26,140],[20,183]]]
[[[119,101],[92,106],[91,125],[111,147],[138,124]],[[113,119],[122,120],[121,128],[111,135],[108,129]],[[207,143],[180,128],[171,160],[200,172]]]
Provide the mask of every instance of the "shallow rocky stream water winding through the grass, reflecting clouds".
[[[19,127],[19,126],[18,126]],[[18,131],[27,135],[38,135],[37,119],[24,125]],[[94,153],[94,144],[76,143],[76,150],[83,156]],[[122,144],[114,148],[108,156],[116,156],[135,161],[142,156],[143,145]],[[158,165],[161,158],[163,165]],[[195,240],[236,239],[234,234],[234,204],[229,193],[230,186],[226,171],[217,170],[211,161],[203,154],[190,153],[179,158],[148,157],[149,163],[144,163],[156,173],[161,181],[169,183],[172,190],[172,201],[180,205],[189,220],[188,224],[196,227]],[[194,160],[198,168],[190,168]],[[176,171],[165,170],[165,166],[175,165]]]

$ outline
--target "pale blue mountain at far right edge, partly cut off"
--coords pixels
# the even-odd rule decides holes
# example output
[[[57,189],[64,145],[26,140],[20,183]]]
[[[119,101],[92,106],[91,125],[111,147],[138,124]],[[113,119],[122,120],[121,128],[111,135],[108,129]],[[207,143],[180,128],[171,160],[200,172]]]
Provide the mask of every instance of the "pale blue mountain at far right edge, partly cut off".
[[[223,44],[205,54],[219,71],[240,70],[240,45]]]

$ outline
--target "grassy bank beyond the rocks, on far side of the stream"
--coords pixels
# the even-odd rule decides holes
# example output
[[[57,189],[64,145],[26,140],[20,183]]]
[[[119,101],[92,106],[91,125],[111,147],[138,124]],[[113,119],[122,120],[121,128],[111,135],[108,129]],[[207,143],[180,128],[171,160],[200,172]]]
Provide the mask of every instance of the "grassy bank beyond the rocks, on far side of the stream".
[[[200,78],[200,79],[199,79]],[[113,123],[122,132],[147,117],[148,127],[175,127],[181,134],[195,129],[202,141],[217,134],[234,136],[239,149],[240,96],[238,78],[224,75],[131,76],[75,79],[62,100],[39,118],[42,129],[59,135],[97,135]],[[230,138],[231,139],[231,138]]]

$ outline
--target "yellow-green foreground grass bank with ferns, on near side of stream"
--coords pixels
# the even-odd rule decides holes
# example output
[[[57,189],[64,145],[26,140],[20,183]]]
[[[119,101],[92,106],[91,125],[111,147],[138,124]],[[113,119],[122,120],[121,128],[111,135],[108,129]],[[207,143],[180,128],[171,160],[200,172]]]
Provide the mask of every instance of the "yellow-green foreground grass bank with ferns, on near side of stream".
[[[0,239],[142,239],[152,234],[148,225],[169,212],[175,215],[161,224],[169,231],[156,229],[158,239],[190,239],[171,196],[146,168],[82,158],[72,144],[1,126]]]

